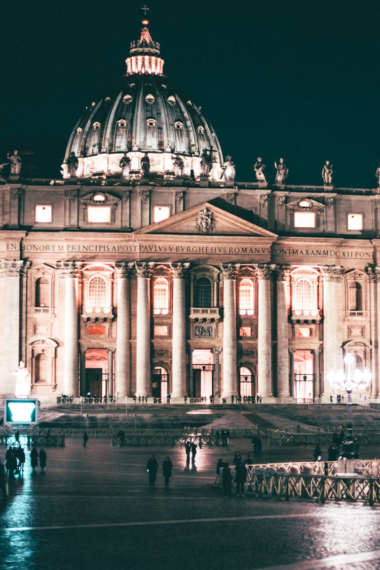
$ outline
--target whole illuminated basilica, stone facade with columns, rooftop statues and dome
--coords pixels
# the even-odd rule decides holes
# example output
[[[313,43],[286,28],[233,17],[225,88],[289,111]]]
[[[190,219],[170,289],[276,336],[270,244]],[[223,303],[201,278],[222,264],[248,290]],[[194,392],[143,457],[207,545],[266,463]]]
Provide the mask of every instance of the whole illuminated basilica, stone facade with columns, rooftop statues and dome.
[[[148,21],[121,91],[73,128],[62,177],[23,178],[21,158],[0,185],[1,394],[23,360],[42,402],[328,401],[350,353],[372,374],[354,398],[377,400],[379,189],[336,188],[326,169],[324,185],[288,185],[282,159],[273,184],[261,159],[236,181]]]

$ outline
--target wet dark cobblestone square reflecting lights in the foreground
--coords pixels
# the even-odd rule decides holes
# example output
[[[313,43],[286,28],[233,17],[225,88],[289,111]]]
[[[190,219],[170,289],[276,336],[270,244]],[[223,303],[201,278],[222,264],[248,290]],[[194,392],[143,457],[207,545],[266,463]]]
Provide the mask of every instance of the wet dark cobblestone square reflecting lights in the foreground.
[[[24,474],[0,501],[0,568],[380,569],[378,508],[248,494],[224,499],[214,487],[216,462],[232,461],[237,449],[244,456],[248,440],[198,449],[190,470],[180,447],[117,447],[105,439],[87,445],[66,439],[66,447],[48,448],[44,473],[32,473],[27,450]],[[277,451],[264,445],[265,461]],[[153,489],[151,453],[160,465]],[[166,455],[174,466],[169,490],[161,470]]]

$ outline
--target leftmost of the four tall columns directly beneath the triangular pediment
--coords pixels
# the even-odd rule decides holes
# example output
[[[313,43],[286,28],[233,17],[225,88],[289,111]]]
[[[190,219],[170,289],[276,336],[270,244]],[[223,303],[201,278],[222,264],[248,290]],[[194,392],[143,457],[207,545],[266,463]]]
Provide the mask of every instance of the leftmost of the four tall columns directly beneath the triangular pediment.
[[[137,273],[136,394],[150,388],[150,275],[154,263],[135,263]]]

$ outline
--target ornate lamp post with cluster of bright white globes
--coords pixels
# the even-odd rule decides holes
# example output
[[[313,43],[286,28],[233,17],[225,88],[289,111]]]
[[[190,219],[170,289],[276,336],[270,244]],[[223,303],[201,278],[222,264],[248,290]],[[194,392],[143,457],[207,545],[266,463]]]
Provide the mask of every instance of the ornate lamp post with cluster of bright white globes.
[[[354,363],[354,356],[351,354],[346,354],[344,357],[344,363],[347,365],[347,372],[344,370],[330,370],[327,375],[327,379],[332,385],[332,388],[337,390],[345,390],[347,392],[347,433],[346,440],[342,443],[342,453],[341,456],[344,459],[358,459],[359,457],[359,446],[356,441],[354,441],[352,434],[352,390],[354,389],[364,389],[366,388],[368,382],[371,380],[371,371],[367,368],[360,370],[357,368],[351,373],[351,365]]]

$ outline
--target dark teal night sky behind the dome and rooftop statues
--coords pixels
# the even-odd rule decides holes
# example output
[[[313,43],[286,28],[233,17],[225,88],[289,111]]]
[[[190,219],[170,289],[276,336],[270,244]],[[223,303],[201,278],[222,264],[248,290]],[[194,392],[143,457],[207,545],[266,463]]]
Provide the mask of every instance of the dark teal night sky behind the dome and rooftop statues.
[[[240,181],[262,156],[269,180],[373,188],[380,162],[378,0],[146,1],[178,93],[202,106]],[[18,0],[1,8],[0,152],[59,176],[92,100],[122,88],[143,2]],[[33,154],[27,154],[32,152]],[[25,172],[24,172],[25,173]]]

